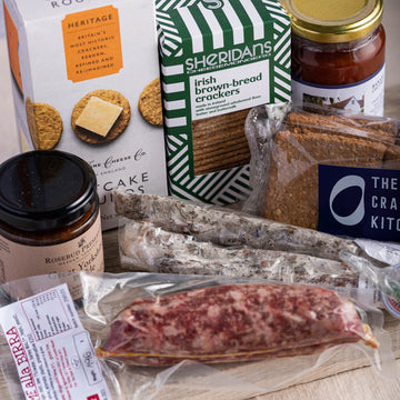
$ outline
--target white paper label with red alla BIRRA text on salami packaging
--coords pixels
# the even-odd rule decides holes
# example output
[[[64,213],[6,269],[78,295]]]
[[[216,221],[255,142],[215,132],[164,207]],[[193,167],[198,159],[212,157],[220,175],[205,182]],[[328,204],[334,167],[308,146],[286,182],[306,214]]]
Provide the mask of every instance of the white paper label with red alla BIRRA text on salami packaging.
[[[67,284],[0,309],[26,399],[111,400]]]

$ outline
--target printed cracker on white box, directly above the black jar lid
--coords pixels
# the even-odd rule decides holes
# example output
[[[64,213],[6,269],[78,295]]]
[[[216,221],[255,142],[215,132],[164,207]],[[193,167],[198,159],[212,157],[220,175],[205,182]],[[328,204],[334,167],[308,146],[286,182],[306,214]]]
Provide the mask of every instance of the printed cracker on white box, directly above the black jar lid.
[[[26,100],[29,132],[36,150],[51,150],[58,144],[63,131],[60,113],[51,106]]]

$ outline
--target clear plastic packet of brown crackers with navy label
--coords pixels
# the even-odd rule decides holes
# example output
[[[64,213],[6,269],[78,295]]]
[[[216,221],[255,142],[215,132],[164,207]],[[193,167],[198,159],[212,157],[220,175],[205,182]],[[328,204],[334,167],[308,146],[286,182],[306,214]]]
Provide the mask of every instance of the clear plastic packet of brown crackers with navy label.
[[[333,234],[400,240],[398,120],[264,106],[250,111],[247,137],[252,179],[261,182],[252,186],[251,211]]]

